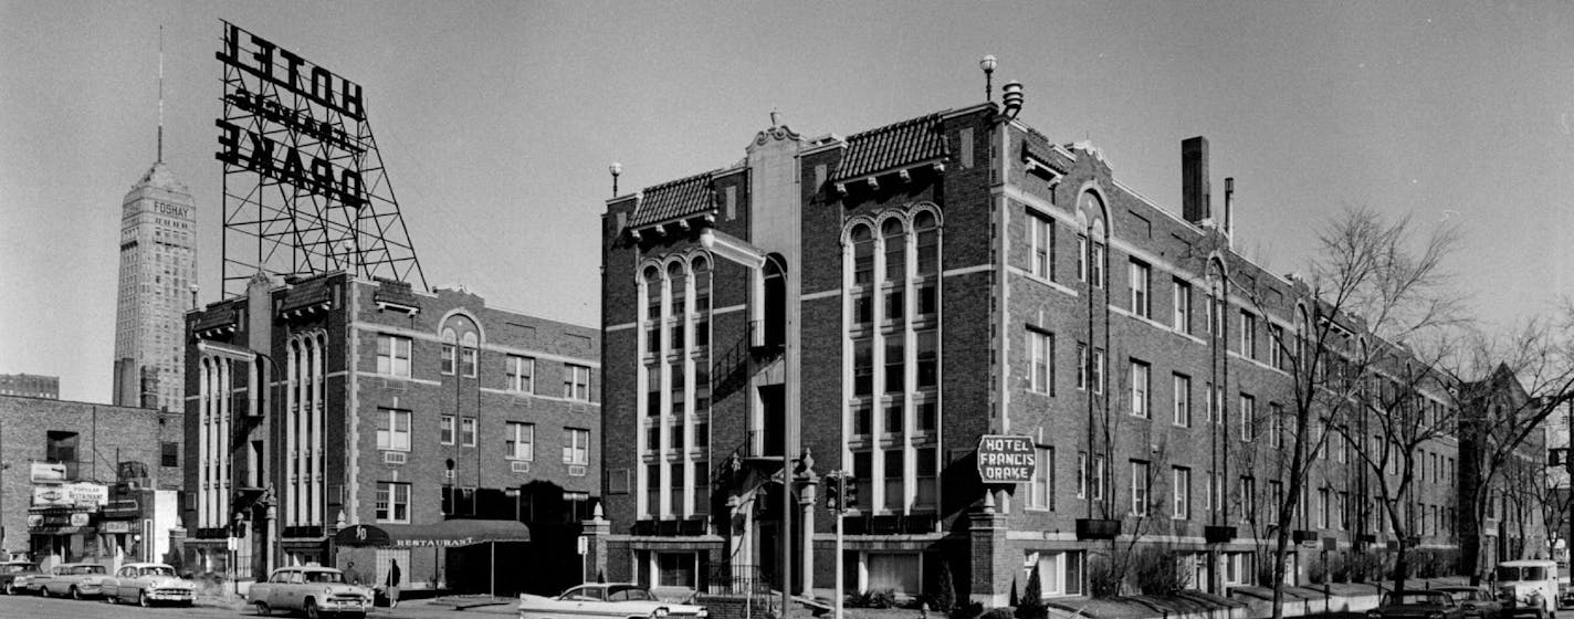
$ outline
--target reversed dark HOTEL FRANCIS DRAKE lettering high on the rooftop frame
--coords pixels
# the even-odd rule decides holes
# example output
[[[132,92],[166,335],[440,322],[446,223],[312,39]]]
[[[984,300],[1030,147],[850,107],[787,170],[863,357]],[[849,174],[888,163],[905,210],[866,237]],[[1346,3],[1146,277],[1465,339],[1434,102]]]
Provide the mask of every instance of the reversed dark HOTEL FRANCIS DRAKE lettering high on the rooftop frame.
[[[225,80],[233,110],[214,123],[219,161],[346,206],[365,205],[360,172],[345,165],[367,150],[343,129],[346,118],[365,120],[359,83],[230,22],[214,57],[252,76]]]

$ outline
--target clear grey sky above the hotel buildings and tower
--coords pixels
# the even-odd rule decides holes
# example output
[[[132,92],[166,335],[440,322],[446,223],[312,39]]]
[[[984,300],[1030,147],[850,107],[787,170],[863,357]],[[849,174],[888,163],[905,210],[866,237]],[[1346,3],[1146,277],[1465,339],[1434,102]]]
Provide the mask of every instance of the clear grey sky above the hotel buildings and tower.
[[[1236,244],[1303,269],[1347,206],[1459,225],[1489,328],[1574,296],[1574,5],[1517,2],[20,2],[0,0],[0,373],[109,402],[120,203],[154,161],[197,200],[219,298],[220,19],[364,87],[433,287],[600,317],[600,214],[737,162],[770,112],[848,135],[1020,80],[1020,120],[1091,140],[1179,213],[1206,135]]]

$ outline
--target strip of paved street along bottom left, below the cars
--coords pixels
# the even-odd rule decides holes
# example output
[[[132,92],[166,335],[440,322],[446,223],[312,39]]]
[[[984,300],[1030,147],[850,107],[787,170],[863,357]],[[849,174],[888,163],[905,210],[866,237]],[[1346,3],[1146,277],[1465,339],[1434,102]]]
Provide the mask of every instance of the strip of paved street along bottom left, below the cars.
[[[455,611],[447,606],[428,605],[425,600],[400,603],[397,610],[376,608],[371,619],[384,617],[419,617],[419,619],[477,619],[508,616],[507,606],[471,608]],[[140,608],[135,605],[110,605],[101,600],[76,602],[63,599],[44,599],[35,595],[0,595],[0,619],[189,619],[189,617],[242,617],[257,616],[250,608],[231,610],[217,606],[154,606]],[[277,616],[283,616],[279,613]]]

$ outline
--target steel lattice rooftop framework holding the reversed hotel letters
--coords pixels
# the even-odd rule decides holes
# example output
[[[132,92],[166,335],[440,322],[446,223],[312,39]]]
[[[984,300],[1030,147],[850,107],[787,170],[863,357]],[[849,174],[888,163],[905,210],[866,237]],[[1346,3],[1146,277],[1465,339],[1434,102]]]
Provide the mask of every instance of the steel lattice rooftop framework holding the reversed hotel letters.
[[[359,83],[224,22],[224,295],[258,271],[427,288]]]

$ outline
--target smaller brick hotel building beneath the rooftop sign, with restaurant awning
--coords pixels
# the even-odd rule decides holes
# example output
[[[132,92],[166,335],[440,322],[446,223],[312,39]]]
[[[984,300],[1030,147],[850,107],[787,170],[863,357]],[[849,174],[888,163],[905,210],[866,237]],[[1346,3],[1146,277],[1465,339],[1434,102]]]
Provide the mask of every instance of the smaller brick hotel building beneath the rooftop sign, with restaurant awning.
[[[186,328],[181,515],[195,572],[354,561],[371,583],[400,559],[409,587],[579,581],[556,565],[576,559],[598,491],[593,328],[345,272],[255,277]],[[334,540],[357,524],[390,542]],[[469,543],[497,532],[507,543]]]

